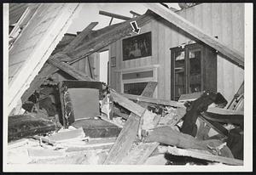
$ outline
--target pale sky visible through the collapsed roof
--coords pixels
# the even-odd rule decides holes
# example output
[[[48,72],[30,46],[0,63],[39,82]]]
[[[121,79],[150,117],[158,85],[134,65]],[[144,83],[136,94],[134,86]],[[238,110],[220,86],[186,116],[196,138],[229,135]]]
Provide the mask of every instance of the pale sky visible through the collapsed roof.
[[[169,7],[179,9],[177,3],[166,3]],[[108,26],[111,17],[99,14],[100,10],[107,11],[113,14],[121,14],[127,17],[132,17],[130,11],[137,14],[144,14],[147,8],[140,3],[81,3],[82,8],[77,18],[73,19],[72,25],[68,28],[67,33],[76,34],[77,31],[82,31],[90,22],[99,22],[94,30]],[[112,24],[122,22],[124,20],[113,19]]]

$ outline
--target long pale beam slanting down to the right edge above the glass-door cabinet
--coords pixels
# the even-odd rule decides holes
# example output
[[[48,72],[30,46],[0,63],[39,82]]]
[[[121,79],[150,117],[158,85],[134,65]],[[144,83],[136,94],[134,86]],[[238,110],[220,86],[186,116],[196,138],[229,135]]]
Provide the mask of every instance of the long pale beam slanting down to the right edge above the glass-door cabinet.
[[[185,20],[180,15],[172,12],[169,8],[165,8],[158,3],[144,3],[146,8],[152,10],[155,14],[159,14],[162,18],[171,22],[173,25],[181,28],[183,31],[188,32],[191,36],[206,43],[208,46],[216,49],[219,53],[223,54],[227,59],[241,66],[244,69],[244,56],[233,48],[230,48],[218,39],[208,36],[204,31],[197,28],[195,25]]]

